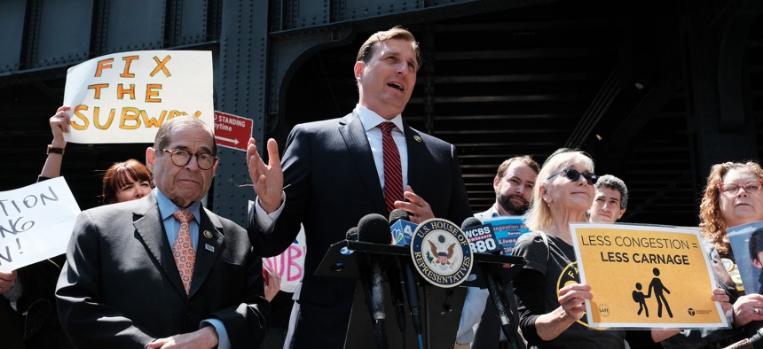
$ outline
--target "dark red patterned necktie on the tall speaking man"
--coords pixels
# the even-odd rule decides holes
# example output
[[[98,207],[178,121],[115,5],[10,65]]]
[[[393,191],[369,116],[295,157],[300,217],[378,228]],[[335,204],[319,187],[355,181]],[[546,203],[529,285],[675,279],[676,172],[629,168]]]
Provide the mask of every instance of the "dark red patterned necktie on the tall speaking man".
[[[395,201],[403,201],[403,170],[400,166],[400,152],[397,151],[397,144],[391,134],[395,124],[382,122],[379,128],[384,153],[384,204],[387,205],[387,211],[392,212]]]

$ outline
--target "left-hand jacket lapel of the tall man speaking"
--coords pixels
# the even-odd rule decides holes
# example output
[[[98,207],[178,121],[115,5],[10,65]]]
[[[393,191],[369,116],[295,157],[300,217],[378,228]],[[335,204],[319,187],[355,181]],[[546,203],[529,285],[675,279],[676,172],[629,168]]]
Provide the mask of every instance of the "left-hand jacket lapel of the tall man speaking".
[[[371,145],[368,144],[366,129],[360,122],[360,117],[352,112],[342,118],[340,121],[339,133],[344,139],[347,151],[350,152],[360,179],[369,193],[368,198],[372,198],[374,209],[377,212],[387,212],[384,206],[384,192],[381,191],[381,182],[376,174],[376,165],[374,156],[371,154]]]

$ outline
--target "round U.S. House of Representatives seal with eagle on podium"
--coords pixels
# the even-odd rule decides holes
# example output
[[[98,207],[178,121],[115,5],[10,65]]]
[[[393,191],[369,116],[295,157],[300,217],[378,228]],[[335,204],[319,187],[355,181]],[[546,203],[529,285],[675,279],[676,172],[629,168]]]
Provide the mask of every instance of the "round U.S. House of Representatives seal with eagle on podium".
[[[421,277],[443,288],[463,283],[474,264],[466,234],[439,218],[421,222],[413,232],[411,258]]]

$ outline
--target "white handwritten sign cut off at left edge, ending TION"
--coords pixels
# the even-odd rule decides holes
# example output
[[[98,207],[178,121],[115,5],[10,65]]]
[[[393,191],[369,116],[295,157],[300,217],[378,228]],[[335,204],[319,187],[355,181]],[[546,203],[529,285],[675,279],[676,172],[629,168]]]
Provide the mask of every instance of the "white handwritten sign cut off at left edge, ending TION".
[[[64,177],[0,191],[0,271],[67,252],[78,213]]]

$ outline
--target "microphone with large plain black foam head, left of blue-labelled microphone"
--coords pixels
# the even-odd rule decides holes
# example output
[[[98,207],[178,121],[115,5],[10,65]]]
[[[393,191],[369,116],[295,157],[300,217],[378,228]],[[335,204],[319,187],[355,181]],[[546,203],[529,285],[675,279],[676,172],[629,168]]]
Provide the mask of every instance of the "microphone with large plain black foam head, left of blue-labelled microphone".
[[[374,244],[389,244],[387,233],[389,225],[387,218],[379,213],[366,214],[358,221],[358,241]],[[351,229],[350,229],[351,230]],[[361,283],[366,290],[366,302],[369,303],[372,322],[374,322],[374,334],[376,346],[387,348],[387,334],[384,331],[384,285],[381,279],[381,256],[371,253],[368,256],[371,264],[371,275],[361,275]],[[365,274],[365,273],[364,273]],[[370,298],[368,297],[370,294]]]

